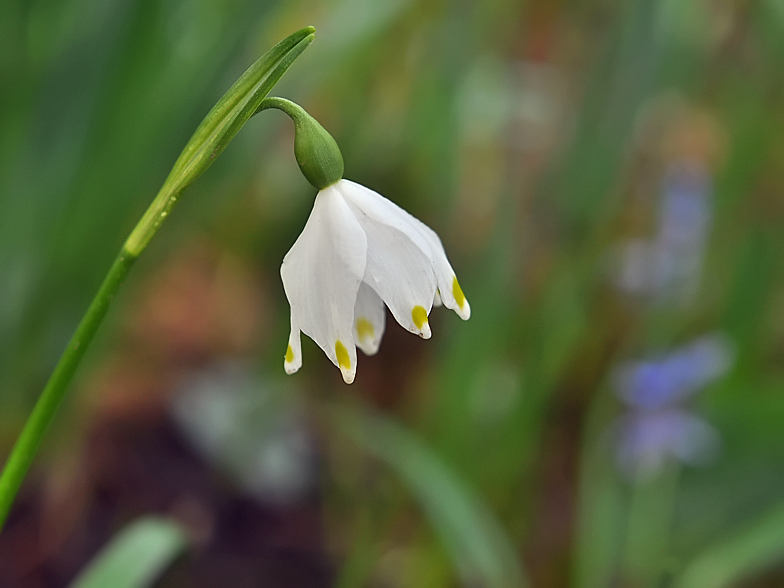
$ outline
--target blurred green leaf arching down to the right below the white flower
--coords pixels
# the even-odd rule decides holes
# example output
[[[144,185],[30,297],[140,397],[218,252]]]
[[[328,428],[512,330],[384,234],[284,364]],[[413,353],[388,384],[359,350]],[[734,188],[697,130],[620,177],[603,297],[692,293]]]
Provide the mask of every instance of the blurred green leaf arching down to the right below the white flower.
[[[339,430],[406,482],[446,544],[466,586],[527,586],[515,548],[492,512],[411,432],[380,415],[335,407]]]

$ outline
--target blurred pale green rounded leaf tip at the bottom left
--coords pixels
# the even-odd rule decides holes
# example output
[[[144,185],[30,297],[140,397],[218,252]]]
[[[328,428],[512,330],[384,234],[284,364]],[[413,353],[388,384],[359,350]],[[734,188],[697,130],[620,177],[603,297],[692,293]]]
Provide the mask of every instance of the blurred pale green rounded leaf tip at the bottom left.
[[[71,583],[70,588],[144,588],[187,547],[171,519],[145,517],[123,529]]]

